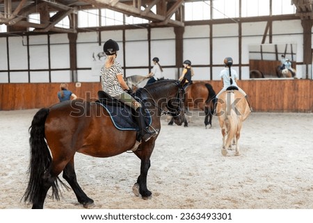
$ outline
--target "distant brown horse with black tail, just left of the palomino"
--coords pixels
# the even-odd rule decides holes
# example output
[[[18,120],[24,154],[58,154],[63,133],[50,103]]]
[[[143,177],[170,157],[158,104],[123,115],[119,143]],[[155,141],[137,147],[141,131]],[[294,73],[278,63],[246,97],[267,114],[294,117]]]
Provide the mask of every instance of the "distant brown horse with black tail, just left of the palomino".
[[[212,115],[214,113],[214,104],[216,93],[209,83],[197,82],[188,85],[185,90],[184,104],[188,110],[203,110],[204,111],[204,125],[212,126]],[[173,119],[168,123],[172,125]],[[185,127],[188,127],[187,120],[184,123]]]

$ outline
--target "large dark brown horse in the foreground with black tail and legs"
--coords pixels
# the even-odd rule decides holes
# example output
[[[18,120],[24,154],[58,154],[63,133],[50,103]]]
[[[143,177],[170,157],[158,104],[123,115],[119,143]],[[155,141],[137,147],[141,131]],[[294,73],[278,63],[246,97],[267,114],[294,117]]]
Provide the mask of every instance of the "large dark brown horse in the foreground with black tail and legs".
[[[170,113],[178,125],[184,122],[183,81],[158,81],[141,90],[141,98],[152,116],[151,126],[155,129],[160,129],[163,113]],[[33,204],[32,208],[43,208],[49,188],[52,188],[52,197],[59,199],[58,181],[61,180],[58,175],[61,172],[79,203],[84,207],[93,204],[93,199],[77,183],[75,153],[110,157],[128,151],[136,142],[136,131],[116,129],[100,104],[79,100],[40,109],[33,117],[30,135],[30,177],[24,201]],[[141,142],[134,151],[141,159],[141,171],[133,191],[143,199],[152,195],[147,189],[147,172],[155,140],[157,137]]]

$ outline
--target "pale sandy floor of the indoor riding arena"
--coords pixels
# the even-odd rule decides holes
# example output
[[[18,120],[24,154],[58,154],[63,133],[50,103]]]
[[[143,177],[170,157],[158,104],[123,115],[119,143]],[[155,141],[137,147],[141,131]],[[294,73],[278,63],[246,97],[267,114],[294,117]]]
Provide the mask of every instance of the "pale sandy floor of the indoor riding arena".
[[[36,111],[0,111],[0,208],[30,208],[21,198]],[[218,119],[211,129],[203,121],[195,115],[184,128],[168,126],[163,117],[147,178],[152,199],[131,191],[140,167],[134,154],[77,154],[78,181],[95,200],[93,208],[313,208],[312,113],[252,113],[243,123],[241,156],[222,156]],[[60,201],[47,197],[45,208],[83,206],[64,190]]]

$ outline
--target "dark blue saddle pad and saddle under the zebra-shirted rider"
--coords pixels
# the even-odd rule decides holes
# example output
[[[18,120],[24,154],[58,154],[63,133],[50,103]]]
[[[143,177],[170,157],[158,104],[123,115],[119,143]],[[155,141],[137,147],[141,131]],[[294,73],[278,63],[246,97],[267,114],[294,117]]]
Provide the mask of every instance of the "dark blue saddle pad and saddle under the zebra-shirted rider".
[[[109,94],[103,91],[98,92],[98,97],[99,100],[96,101],[96,103],[107,110],[116,129],[139,131],[139,126],[132,116],[132,108],[121,103],[118,99],[113,99]],[[136,98],[136,100],[138,100],[138,98]],[[145,122],[150,125],[152,118],[148,110],[146,110],[146,114]]]

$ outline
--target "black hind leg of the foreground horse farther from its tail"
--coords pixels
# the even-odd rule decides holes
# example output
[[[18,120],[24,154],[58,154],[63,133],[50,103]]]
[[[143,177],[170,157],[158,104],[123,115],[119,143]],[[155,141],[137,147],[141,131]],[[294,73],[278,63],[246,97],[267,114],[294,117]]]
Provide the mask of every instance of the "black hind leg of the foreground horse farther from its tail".
[[[65,166],[63,170],[63,178],[70,184],[72,190],[74,191],[77,200],[80,204],[83,205],[84,208],[88,208],[90,204],[93,204],[93,199],[87,197],[85,192],[81,189],[79,184],[77,183],[77,177],[74,169],[74,158],[70,160],[69,163]]]

